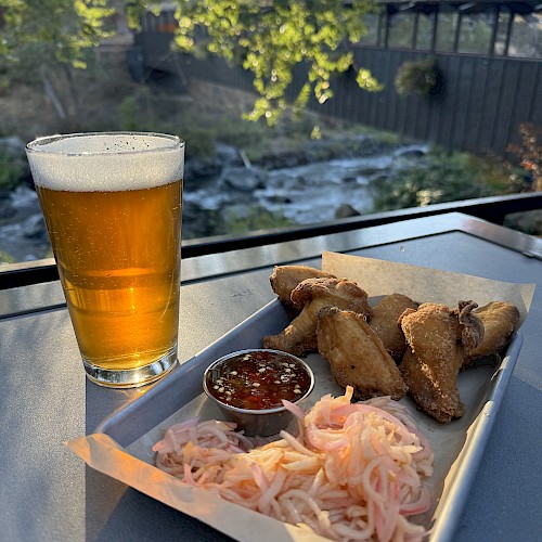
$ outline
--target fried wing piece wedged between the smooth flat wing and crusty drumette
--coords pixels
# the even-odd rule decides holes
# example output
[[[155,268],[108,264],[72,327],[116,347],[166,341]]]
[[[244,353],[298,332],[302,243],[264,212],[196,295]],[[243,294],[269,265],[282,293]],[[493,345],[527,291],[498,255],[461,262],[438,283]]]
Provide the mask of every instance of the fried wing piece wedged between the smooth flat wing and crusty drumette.
[[[369,323],[396,362],[401,360],[406,348],[404,334],[398,324],[399,317],[406,309],[416,309],[417,306],[418,304],[408,296],[390,294],[373,307],[373,315]]]

